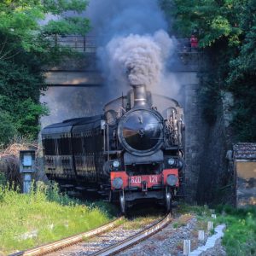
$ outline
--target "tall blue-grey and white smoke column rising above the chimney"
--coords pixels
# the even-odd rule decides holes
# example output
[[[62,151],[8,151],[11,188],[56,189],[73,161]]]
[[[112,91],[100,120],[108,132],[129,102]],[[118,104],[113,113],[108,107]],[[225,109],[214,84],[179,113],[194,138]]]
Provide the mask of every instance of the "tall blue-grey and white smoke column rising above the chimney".
[[[166,32],[159,1],[95,0],[88,15],[100,38],[98,65],[108,100],[126,94],[129,84],[145,84],[155,93],[167,89],[169,96],[177,97],[177,79],[166,68],[177,42]]]

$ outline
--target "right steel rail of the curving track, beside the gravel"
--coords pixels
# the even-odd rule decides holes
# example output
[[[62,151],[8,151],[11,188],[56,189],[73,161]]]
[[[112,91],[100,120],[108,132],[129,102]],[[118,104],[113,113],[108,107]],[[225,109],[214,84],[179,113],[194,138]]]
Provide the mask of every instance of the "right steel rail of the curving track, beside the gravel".
[[[102,250],[97,251],[96,253],[92,253],[90,254],[90,256],[107,256],[107,255],[112,255],[114,253],[118,253],[119,251],[122,251],[127,247],[131,247],[137,242],[142,241],[148,238],[148,236],[152,236],[154,233],[162,230],[171,221],[172,221],[172,215],[171,213],[169,213],[166,215],[165,218],[160,219],[158,223],[150,226],[148,229],[142,230],[136,235],[130,236],[123,241],[119,241],[116,244],[113,244],[112,246],[105,247]]]

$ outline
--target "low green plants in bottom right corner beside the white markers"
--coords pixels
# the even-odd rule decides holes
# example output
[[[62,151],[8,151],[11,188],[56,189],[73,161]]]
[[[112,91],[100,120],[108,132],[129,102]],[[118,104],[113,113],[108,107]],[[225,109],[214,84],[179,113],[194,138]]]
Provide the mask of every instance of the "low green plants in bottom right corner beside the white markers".
[[[217,218],[211,218],[215,211]],[[201,230],[206,230],[207,221],[213,221],[214,227],[218,224],[225,224],[222,244],[228,256],[256,255],[256,208],[235,209],[230,206],[218,206],[215,210],[210,210],[207,206],[180,205],[177,212],[194,213],[201,222]],[[180,225],[182,223],[177,223]]]

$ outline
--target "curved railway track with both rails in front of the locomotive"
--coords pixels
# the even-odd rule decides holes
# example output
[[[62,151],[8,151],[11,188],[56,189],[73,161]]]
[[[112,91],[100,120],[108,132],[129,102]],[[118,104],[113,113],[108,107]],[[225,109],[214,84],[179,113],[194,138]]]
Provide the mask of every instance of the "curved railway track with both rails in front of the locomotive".
[[[110,224],[106,224],[96,230],[71,236],[61,241],[55,241],[42,247],[36,247],[24,252],[15,253],[11,256],[33,256],[44,255],[50,253],[52,256],[66,255],[90,255],[103,256],[111,255],[125,250],[127,247],[143,241],[148,236],[162,230],[172,220],[171,214],[167,214],[164,218],[154,220],[147,224],[145,228],[125,230],[119,226],[120,218]],[[110,231],[109,231],[110,230]],[[101,235],[100,235],[101,234]],[[94,237],[93,239],[90,239]],[[86,241],[84,241],[86,239]]]

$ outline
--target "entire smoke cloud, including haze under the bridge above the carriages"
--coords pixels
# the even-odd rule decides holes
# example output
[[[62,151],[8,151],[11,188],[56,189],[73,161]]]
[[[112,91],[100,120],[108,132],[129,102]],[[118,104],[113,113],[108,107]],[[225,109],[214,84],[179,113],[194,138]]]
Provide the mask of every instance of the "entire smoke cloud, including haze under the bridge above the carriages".
[[[48,125],[63,119],[102,113],[105,103],[126,94],[130,84],[177,98],[179,84],[166,62],[176,41],[170,38],[158,0],[90,0],[86,15],[96,37],[97,67],[105,83],[99,87],[51,88],[42,97]]]

